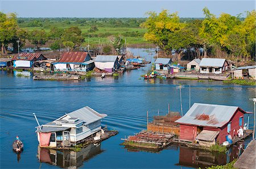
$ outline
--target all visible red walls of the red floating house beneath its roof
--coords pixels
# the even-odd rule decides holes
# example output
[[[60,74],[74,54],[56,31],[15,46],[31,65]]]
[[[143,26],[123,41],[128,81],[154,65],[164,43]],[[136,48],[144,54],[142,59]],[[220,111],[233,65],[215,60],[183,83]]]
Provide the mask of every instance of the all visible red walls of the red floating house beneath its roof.
[[[231,122],[231,128],[230,128],[230,135],[233,138],[233,130],[235,129],[236,136],[237,136],[237,130],[240,128],[239,125],[239,119],[240,117],[244,117],[243,113],[238,109],[236,113],[234,113],[234,116],[230,119],[229,122]],[[243,119],[244,120],[244,119]],[[243,121],[242,125],[243,126]],[[222,126],[222,128],[212,128],[209,126],[204,126],[204,130],[213,130],[213,131],[219,131],[220,134],[217,137],[217,141],[221,144],[222,142],[226,141],[226,136],[228,135],[228,124],[225,124]],[[180,140],[189,140],[193,141],[195,140],[197,136],[197,126],[192,125],[185,125],[180,124]]]

